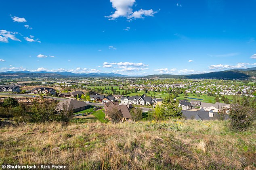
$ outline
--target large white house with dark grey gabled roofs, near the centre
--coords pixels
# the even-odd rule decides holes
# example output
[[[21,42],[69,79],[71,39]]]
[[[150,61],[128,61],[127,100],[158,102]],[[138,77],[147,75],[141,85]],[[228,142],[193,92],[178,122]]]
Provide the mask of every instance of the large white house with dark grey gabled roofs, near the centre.
[[[143,94],[142,96],[122,96],[121,104],[149,105],[152,104],[152,98]]]

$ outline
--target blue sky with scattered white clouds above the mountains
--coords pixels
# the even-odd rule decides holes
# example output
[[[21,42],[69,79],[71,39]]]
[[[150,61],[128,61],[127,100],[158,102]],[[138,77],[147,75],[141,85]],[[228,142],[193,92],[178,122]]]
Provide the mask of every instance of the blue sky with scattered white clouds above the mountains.
[[[256,0],[8,0],[0,71],[197,74],[256,66]]]

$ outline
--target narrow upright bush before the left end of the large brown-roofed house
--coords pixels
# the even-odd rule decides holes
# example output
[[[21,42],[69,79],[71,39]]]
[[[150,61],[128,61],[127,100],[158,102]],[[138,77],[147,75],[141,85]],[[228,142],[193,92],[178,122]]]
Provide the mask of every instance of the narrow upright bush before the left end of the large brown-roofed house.
[[[73,105],[69,106],[67,102],[63,102],[62,109],[60,111],[60,121],[62,127],[67,127],[69,125],[70,119],[73,117]]]

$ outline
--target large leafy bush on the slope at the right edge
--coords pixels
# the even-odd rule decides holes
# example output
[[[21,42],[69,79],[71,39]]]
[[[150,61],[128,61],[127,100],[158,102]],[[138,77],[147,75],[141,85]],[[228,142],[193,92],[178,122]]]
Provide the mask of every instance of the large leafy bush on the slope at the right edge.
[[[246,131],[256,120],[256,101],[245,96],[234,96],[229,113],[229,128],[232,131]]]

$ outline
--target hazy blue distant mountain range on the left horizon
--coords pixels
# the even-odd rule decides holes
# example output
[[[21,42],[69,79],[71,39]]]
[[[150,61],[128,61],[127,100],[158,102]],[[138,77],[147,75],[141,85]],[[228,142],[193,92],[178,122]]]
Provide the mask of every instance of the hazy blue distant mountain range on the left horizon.
[[[0,78],[8,78],[8,77],[56,77],[56,78],[67,78],[67,77],[128,77],[122,74],[116,73],[71,73],[71,72],[30,72],[27,70],[19,71],[19,72],[2,72],[0,73]]]

